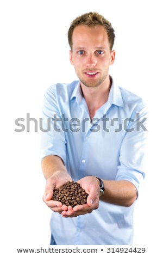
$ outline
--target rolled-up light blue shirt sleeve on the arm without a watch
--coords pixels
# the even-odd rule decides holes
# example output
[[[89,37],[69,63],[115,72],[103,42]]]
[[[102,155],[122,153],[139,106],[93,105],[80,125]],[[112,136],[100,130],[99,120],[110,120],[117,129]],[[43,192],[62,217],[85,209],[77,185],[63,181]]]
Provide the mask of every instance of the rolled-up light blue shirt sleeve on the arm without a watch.
[[[48,155],[58,155],[66,162],[66,138],[62,130],[56,86],[47,89],[42,106],[41,160]]]

